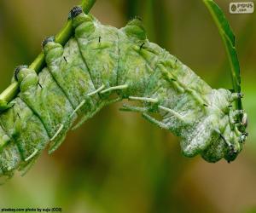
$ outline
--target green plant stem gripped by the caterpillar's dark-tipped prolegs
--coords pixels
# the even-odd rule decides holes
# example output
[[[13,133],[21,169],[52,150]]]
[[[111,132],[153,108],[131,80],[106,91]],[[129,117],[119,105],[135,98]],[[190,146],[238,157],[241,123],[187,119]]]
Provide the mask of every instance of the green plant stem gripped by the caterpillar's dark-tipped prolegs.
[[[92,6],[96,3],[96,0],[83,0],[81,5],[83,7],[84,13],[88,14]],[[72,26],[72,20],[67,20],[66,25],[61,29],[61,32],[59,32],[55,36],[55,42],[61,43],[64,45],[67,43],[68,39],[73,34],[73,26]],[[32,64],[29,66],[29,68],[35,70],[36,72],[40,72],[42,68],[45,65],[44,61],[44,53],[41,52],[38,57],[32,62]],[[12,83],[9,85],[7,89],[3,91],[3,93],[0,94],[0,101],[3,102],[9,102],[12,101],[17,93],[19,92],[19,84],[17,82]]]

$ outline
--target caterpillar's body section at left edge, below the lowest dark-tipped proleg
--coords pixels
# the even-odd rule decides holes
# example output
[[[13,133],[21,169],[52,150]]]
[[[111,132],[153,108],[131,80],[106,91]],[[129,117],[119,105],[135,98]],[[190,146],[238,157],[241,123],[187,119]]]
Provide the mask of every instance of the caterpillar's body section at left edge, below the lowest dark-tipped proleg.
[[[1,114],[0,124],[1,170],[12,176],[15,169],[24,170],[44,150],[49,136],[41,120],[19,97]]]

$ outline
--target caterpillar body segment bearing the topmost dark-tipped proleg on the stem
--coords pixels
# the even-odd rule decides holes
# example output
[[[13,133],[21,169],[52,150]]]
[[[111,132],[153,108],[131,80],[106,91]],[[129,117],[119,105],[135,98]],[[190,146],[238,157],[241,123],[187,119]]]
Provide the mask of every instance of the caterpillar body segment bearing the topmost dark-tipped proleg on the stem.
[[[96,88],[101,88],[102,85],[104,89],[115,87],[119,69],[118,31],[112,26],[102,26],[93,17],[80,12],[73,17],[73,27],[91,81]],[[109,93],[105,90],[101,96],[108,99]]]

